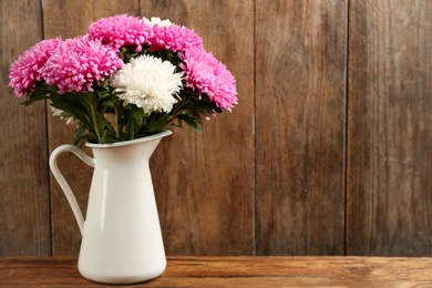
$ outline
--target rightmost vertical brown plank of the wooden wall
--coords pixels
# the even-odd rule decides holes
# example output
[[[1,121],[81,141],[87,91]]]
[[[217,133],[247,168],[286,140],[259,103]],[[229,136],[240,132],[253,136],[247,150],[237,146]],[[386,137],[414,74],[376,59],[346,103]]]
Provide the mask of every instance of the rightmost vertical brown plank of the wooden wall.
[[[432,2],[350,2],[347,253],[432,253]]]

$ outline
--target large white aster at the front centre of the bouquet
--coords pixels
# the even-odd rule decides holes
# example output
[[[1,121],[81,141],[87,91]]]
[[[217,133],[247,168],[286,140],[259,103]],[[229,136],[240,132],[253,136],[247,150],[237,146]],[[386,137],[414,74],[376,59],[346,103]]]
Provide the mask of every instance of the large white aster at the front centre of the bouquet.
[[[158,58],[141,55],[116,71],[111,80],[117,96],[142,107],[146,114],[153,111],[169,112],[177,102],[182,75],[175,65]]]

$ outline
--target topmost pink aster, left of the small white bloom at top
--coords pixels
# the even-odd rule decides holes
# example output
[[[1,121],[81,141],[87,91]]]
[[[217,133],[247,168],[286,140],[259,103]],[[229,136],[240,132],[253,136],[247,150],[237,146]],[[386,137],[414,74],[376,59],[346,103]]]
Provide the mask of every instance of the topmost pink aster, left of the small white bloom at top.
[[[115,49],[136,47],[136,52],[140,52],[142,45],[148,43],[153,32],[140,18],[120,14],[93,22],[88,29],[88,34],[91,39],[100,39],[104,44]]]

